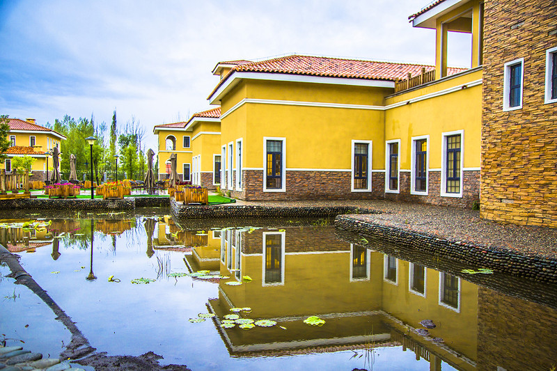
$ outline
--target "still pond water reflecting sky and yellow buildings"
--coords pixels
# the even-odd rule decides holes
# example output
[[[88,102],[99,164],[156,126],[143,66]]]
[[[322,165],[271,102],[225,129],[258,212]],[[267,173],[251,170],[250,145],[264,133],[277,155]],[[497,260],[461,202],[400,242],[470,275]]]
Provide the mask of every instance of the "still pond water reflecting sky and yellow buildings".
[[[191,370],[557,365],[554,286],[360,246],[322,220],[186,222],[165,212],[17,215],[0,221],[0,244],[109,355],[152,351]],[[2,336],[58,356],[70,331],[8,274],[2,264]],[[276,325],[223,328],[231,308]],[[215,317],[190,322],[205,313]],[[310,316],[324,324],[304,323]],[[428,333],[424,319],[436,325]]]

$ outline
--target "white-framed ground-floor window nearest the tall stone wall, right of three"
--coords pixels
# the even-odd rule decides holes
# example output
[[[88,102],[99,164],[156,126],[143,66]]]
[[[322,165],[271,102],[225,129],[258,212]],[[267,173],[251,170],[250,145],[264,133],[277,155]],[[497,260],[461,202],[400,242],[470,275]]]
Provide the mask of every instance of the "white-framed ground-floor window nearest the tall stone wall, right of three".
[[[441,134],[441,196],[462,197],[464,130]]]

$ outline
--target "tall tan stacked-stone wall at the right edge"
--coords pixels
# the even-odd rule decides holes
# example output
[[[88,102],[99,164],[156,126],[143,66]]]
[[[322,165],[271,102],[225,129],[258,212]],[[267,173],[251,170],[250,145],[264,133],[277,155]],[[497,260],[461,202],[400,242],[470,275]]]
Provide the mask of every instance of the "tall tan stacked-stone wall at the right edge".
[[[485,1],[481,213],[557,227],[557,103],[544,104],[557,1]],[[524,58],[522,108],[503,111],[504,64]]]

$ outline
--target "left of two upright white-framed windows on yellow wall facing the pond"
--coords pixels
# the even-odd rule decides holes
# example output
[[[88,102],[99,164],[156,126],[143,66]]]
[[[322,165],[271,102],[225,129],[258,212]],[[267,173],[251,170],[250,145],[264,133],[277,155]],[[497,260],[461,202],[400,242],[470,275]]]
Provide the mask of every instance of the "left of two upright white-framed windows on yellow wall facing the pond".
[[[263,138],[263,191],[286,191],[286,138]]]

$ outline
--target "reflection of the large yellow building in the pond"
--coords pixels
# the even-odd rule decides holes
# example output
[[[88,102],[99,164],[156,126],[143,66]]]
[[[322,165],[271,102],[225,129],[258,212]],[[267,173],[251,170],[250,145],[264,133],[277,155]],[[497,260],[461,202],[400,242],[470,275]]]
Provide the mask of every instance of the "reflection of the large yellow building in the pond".
[[[230,308],[249,307],[249,318],[288,329],[222,329],[233,354],[395,342],[430,354],[432,365],[475,368],[478,289],[460,278],[340,242],[334,228],[223,230],[220,260],[224,276],[253,281],[221,283],[219,298],[210,300],[214,313],[222,318]],[[310,315],[327,324],[304,324]],[[414,331],[423,319],[437,325],[430,336]]]

